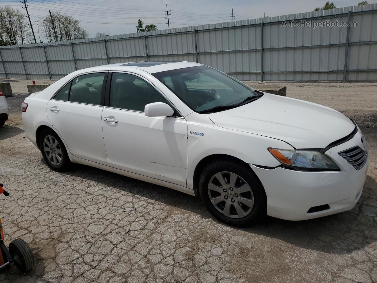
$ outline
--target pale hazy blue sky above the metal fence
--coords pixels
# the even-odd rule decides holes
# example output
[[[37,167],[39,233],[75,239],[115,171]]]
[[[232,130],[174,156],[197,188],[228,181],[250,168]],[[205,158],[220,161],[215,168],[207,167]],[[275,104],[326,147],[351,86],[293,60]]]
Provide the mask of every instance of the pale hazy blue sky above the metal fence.
[[[300,12],[313,11],[314,8],[323,6],[325,0],[28,0],[29,13],[32,23],[51,12],[63,12],[79,20],[87,30],[89,37],[94,37],[97,32],[110,35],[127,34],[135,32],[135,25],[140,18],[145,24],[153,23],[158,29],[167,29],[167,20],[164,10],[166,4],[171,10],[172,24],[170,28],[180,28],[191,25],[207,23],[228,22],[229,13],[233,8],[235,20],[278,16]],[[357,5],[360,0],[333,1],[340,8]],[[373,3],[373,2],[369,2]],[[0,5],[11,5],[21,8],[20,0],[0,0]],[[25,10],[25,9],[24,9]],[[26,14],[26,13],[25,13]],[[33,25],[35,36],[38,38],[38,22]],[[40,31],[40,38],[43,37]]]

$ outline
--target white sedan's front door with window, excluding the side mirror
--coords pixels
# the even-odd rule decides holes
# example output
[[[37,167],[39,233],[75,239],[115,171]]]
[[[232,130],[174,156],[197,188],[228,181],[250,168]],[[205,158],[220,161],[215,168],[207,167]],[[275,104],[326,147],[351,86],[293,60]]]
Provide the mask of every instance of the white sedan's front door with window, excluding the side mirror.
[[[186,120],[144,115],[146,104],[169,102],[136,75],[113,73],[109,95],[109,106],[102,112],[107,118],[102,128],[108,165],[185,186]]]

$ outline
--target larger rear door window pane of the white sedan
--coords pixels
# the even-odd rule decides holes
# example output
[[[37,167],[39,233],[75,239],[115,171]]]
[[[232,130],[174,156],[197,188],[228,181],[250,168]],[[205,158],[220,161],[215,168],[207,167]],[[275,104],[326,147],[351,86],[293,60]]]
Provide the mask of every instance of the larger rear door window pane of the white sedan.
[[[69,101],[100,105],[105,74],[85,74],[74,78],[70,88]]]

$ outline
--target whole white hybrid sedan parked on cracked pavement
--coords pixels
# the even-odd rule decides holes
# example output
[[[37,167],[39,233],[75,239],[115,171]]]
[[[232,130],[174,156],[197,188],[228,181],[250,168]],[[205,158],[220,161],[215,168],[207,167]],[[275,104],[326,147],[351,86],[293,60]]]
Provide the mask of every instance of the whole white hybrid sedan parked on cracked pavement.
[[[365,139],[345,115],[198,63],[82,69],[22,112],[53,170],[81,163],[200,196],[234,226],[347,211],[366,177]]]

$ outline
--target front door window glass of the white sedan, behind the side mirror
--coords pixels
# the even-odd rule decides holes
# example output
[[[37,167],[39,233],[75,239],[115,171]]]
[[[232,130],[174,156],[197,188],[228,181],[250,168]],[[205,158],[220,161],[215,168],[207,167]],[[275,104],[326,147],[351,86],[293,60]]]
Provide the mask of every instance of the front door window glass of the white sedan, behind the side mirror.
[[[166,98],[142,78],[131,74],[113,73],[110,107],[144,112],[144,107],[153,102],[169,104]]]

